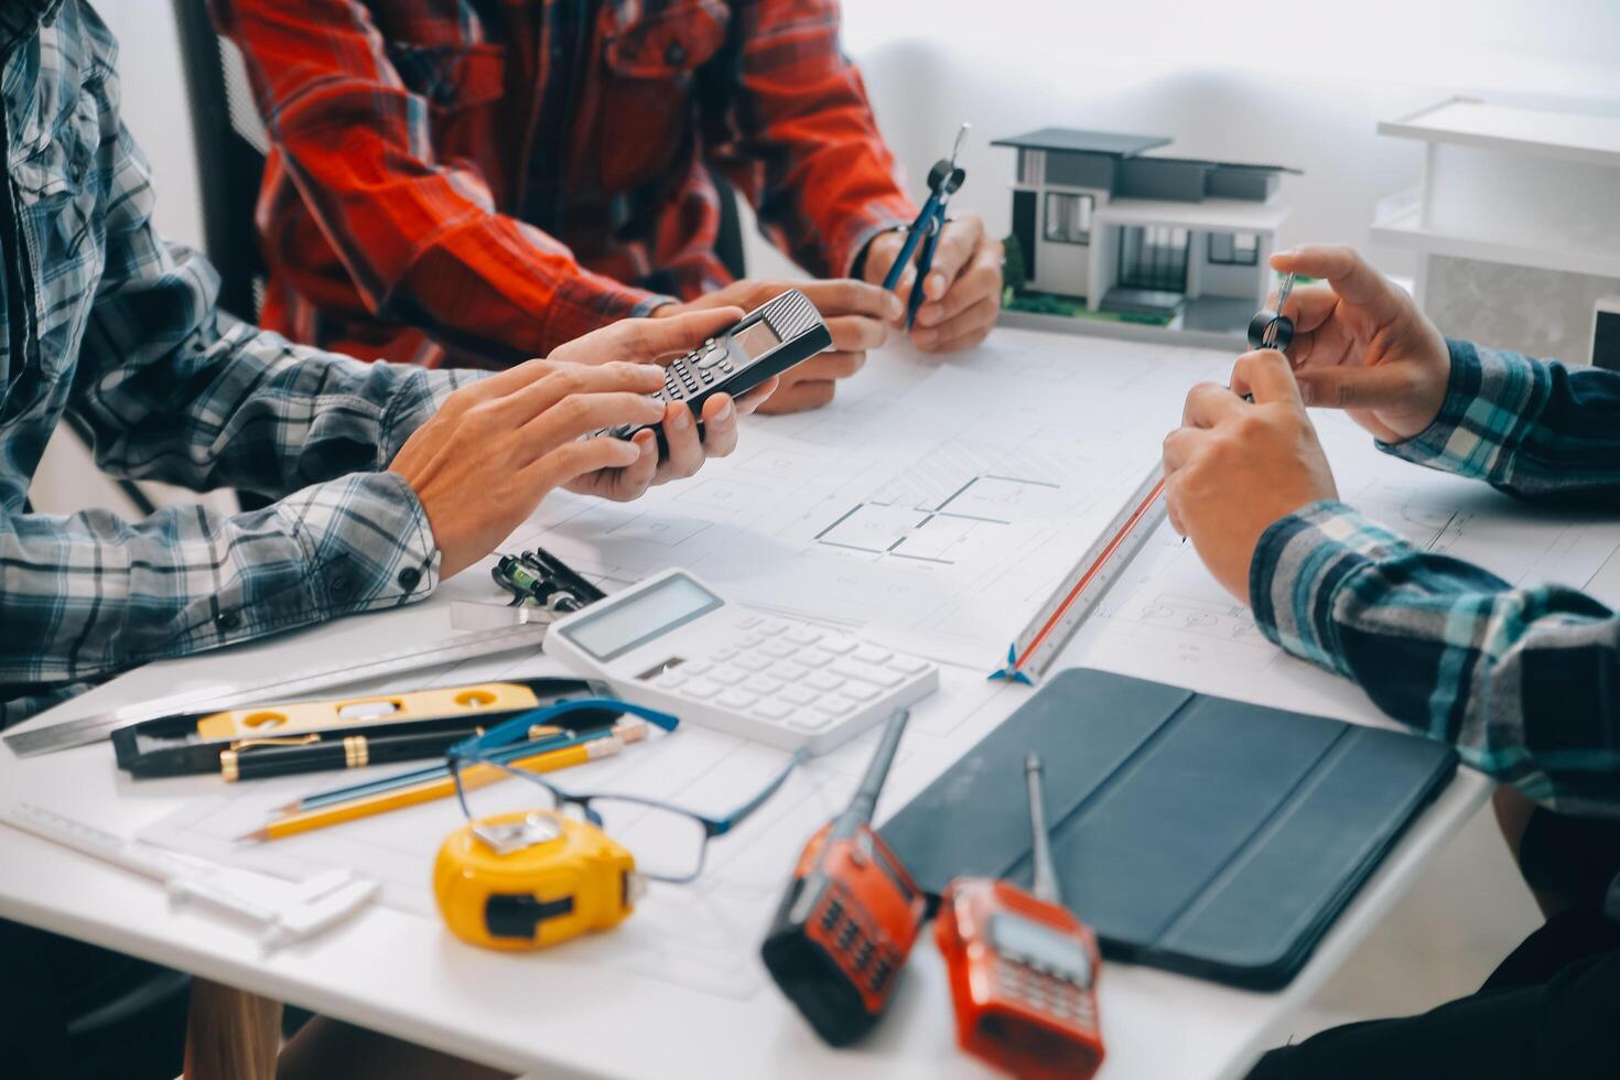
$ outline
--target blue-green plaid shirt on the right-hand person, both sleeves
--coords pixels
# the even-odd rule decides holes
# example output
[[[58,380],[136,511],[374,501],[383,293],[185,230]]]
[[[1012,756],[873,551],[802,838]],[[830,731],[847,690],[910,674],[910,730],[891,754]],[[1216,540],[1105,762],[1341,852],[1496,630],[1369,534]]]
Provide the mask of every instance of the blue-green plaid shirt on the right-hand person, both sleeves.
[[[1435,423],[1382,450],[1526,499],[1620,508],[1620,374],[1452,342]],[[1558,585],[1511,588],[1343,504],[1275,523],[1249,575],[1290,653],[1536,801],[1620,814],[1620,617]]]

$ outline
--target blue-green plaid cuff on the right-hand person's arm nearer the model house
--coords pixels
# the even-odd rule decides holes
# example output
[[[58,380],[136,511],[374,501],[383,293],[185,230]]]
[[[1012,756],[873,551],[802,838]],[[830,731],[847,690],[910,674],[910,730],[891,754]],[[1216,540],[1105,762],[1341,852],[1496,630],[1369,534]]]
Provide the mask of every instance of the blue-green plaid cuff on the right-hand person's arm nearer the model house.
[[[1440,415],[1405,442],[1379,442],[1385,453],[1416,465],[1494,479],[1507,474],[1515,450],[1547,400],[1547,371],[1500,348],[1447,338],[1452,379]]]

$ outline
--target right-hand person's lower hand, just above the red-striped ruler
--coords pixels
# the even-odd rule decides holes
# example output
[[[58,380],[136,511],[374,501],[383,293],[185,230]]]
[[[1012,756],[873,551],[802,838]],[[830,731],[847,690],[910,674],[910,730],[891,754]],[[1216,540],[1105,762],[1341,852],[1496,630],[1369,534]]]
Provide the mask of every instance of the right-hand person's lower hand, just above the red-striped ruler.
[[[1212,382],[1187,393],[1181,427],[1165,439],[1165,502],[1170,525],[1247,604],[1260,534],[1338,489],[1288,361],[1273,350],[1244,353],[1231,381],[1252,389],[1254,403]]]

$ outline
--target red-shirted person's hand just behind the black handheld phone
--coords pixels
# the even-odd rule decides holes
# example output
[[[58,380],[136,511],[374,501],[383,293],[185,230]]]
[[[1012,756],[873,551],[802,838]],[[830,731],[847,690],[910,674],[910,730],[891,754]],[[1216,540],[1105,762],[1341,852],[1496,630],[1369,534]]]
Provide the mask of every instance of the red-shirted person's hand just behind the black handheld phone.
[[[760,411],[802,413],[807,408],[829,403],[836,382],[860,371],[867,363],[867,351],[880,348],[888,340],[889,324],[897,324],[906,316],[906,308],[899,300],[881,288],[850,279],[833,282],[747,279],[685,304],[664,304],[653,316],[666,319],[692,311],[735,306],[744,309],[732,319],[735,322],[742,314],[789,288],[797,288],[808,296],[821,317],[826,319],[826,329],[833,334],[833,348],[784,371],[776,393],[760,403]]]

